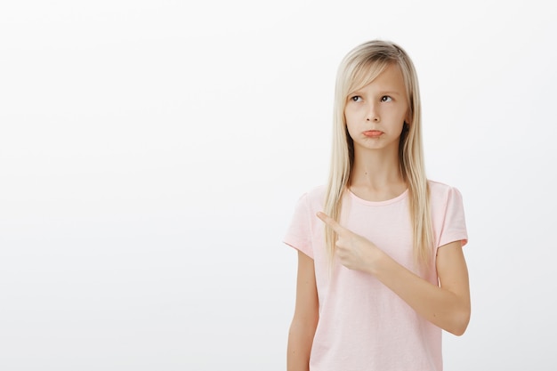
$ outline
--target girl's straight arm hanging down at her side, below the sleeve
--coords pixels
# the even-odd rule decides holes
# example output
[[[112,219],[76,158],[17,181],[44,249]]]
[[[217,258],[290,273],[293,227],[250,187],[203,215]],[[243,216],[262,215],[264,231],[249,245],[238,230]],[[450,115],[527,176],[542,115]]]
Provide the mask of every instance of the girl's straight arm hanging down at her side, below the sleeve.
[[[287,371],[308,371],[319,302],[313,259],[298,251],[298,278],[294,318],[288,333]]]

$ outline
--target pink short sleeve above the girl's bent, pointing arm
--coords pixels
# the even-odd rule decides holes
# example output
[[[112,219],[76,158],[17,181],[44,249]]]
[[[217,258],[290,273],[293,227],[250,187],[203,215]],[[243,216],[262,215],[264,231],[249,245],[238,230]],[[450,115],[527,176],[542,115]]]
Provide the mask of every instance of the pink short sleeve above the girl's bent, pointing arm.
[[[439,246],[447,245],[454,241],[461,241],[462,246],[466,245],[468,243],[468,233],[464,218],[462,195],[459,190],[451,187],[448,189]]]

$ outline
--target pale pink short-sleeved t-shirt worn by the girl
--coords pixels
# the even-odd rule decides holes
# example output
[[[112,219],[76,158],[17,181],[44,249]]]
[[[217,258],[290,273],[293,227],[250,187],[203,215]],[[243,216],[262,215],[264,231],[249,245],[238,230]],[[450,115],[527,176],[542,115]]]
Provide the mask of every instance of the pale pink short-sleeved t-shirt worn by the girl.
[[[460,192],[429,181],[435,246],[467,242]],[[373,276],[335,262],[329,276],[323,211],[326,189],[315,188],[297,203],[284,242],[315,264],[319,324],[311,349],[311,371],[440,371],[441,329],[423,319]],[[420,273],[414,262],[408,190],[397,198],[371,202],[350,191],[343,197],[340,223],[373,241],[393,259],[438,284],[434,268]]]

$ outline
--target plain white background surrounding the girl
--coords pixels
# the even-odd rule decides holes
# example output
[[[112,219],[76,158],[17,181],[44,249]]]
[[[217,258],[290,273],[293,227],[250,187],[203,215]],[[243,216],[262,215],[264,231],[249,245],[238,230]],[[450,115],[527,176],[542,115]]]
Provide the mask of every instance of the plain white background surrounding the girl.
[[[0,369],[285,369],[301,194],[335,72],[413,58],[430,178],[464,196],[446,370],[554,370],[557,12],[545,1],[0,5]]]

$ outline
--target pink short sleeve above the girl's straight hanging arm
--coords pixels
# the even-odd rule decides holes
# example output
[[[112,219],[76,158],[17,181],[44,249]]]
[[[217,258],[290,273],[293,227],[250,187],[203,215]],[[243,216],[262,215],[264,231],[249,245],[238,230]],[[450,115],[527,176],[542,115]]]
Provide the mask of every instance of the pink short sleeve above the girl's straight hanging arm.
[[[311,217],[308,195],[304,194],[298,199],[295,212],[283,238],[283,242],[303,252],[313,259],[313,246],[311,244]]]

